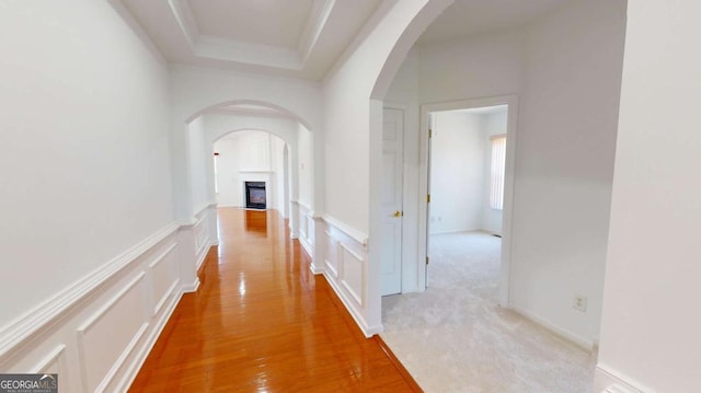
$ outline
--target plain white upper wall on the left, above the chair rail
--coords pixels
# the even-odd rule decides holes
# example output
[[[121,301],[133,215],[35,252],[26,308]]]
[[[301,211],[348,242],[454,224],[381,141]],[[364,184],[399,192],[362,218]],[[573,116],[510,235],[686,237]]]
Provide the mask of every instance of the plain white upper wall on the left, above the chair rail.
[[[0,325],[173,220],[166,67],[105,1],[0,12]]]

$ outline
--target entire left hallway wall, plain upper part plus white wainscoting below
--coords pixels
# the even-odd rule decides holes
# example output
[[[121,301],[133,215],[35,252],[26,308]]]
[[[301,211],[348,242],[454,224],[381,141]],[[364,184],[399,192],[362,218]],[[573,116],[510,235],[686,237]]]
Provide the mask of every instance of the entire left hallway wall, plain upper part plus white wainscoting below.
[[[0,5],[0,371],[65,392],[127,390],[212,243],[175,221],[168,68],[110,4]]]

